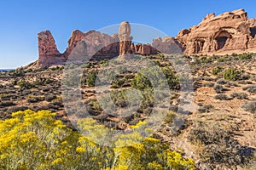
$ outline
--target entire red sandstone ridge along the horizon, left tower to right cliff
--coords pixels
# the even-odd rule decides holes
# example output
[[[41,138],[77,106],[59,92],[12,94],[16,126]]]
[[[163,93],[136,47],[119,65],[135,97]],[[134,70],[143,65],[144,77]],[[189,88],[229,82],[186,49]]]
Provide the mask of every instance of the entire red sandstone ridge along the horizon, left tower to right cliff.
[[[247,19],[244,9],[224,14],[207,14],[198,26],[179,31],[177,37],[156,37],[151,44],[134,44],[129,22],[122,22],[119,33],[109,36],[99,31],[75,30],[61,54],[50,31],[38,33],[39,58],[33,65],[49,67],[65,64],[73,48],[84,38],[96,47],[96,59],[111,59],[124,54],[241,54],[256,52],[256,18]],[[177,48],[179,47],[179,48]]]

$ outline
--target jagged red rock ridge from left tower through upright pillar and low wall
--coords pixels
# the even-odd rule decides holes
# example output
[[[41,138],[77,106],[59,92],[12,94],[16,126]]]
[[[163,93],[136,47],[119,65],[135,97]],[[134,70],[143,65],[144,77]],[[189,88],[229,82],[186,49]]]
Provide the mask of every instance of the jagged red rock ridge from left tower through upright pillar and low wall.
[[[39,59],[36,63],[40,68],[51,65],[64,65],[73,49],[79,42],[84,40],[88,46],[96,48],[89,49],[89,54],[95,59],[111,59],[124,54],[157,54],[158,50],[149,44],[134,44],[131,42],[131,26],[129,22],[122,22],[119,26],[119,33],[109,36],[99,31],[87,31],[85,33],[75,30],[68,40],[66,51],[61,54],[56,48],[55,40],[50,31],[38,33]],[[93,45],[92,45],[93,44]],[[88,50],[88,49],[87,49]]]

